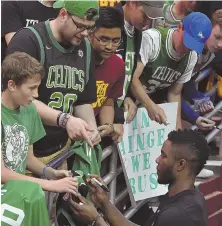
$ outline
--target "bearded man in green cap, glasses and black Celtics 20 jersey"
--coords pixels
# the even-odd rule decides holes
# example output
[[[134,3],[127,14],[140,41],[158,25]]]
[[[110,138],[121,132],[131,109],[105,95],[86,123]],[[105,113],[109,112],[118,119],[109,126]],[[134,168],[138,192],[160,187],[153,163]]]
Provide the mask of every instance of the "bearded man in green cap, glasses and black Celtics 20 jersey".
[[[21,29],[7,52],[26,52],[44,64],[46,76],[34,103],[46,136],[34,145],[34,154],[45,163],[66,149],[68,138],[90,146],[101,140],[91,105],[96,101],[94,54],[86,39],[95,29],[98,2],[58,0],[53,7],[60,9],[57,18]]]

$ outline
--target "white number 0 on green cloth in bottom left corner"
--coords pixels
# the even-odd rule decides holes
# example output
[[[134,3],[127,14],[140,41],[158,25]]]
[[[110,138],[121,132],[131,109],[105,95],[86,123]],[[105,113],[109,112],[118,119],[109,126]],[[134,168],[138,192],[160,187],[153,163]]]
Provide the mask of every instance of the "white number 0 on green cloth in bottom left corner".
[[[18,209],[14,206],[8,205],[6,203],[3,203],[1,205],[1,212],[2,212],[1,222],[11,226],[20,226],[25,218],[25,213],[23,210]],[[7,213],[7,215],[16,216],[17,219],[14,220],[13,218],[15,217],[10,218],[10,217],[4,216],[5,213]]]

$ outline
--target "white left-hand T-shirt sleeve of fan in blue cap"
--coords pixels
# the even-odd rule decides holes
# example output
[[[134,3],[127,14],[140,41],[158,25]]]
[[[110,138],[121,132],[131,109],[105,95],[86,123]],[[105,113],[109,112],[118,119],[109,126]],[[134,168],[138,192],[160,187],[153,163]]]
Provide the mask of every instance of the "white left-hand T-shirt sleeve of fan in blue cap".
[[[140,48],[140,59],[144,66],[153,61],[159,54],[161,45],[161,34],[156,29],[143,31]]]

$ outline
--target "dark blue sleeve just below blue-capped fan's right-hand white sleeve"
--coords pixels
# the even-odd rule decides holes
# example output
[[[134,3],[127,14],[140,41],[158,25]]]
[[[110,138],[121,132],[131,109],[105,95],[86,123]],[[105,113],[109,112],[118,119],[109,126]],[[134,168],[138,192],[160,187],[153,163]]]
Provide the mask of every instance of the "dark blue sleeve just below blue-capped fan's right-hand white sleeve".
[[[202,99],[204,94],[199,92],[195,87],[195,81],[191,79],[183,86],[183,98],[188,102],[193,102],[193,99]]]

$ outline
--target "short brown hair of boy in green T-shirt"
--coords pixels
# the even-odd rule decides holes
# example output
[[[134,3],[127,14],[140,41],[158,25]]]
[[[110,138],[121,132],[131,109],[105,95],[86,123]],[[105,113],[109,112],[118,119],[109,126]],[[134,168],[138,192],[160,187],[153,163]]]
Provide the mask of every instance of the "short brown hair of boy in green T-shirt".
[[[16,85],[21,85],[28,78],[37,75],[42,78],[44,68],[35,58],[24,52],[12,53],[2,62],[2,91],[8,88],[9,80],[13,80]]]

